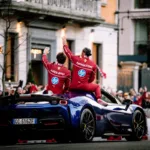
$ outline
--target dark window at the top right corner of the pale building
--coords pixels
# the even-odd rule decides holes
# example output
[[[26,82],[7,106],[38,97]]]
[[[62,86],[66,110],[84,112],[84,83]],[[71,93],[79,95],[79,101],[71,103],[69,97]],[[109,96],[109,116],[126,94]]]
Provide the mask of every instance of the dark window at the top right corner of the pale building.
[[[150,8],[150,0],[135,0],[135,8]]]

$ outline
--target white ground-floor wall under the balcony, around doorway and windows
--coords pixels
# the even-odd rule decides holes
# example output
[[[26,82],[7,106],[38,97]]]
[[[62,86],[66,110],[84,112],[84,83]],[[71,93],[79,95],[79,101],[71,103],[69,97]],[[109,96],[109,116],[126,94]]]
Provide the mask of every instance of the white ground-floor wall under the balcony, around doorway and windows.
[[[18,23],[15,23],[15,26]],[[19,27],[18,27],[19,26]],[[91,35],[91,29],[94,29]],[[49,43],[53,43],[53,55],[51,60],[55,61],[56,53],[63,51],[61,29],[54,32],[51,29],[32,28],[28,30],[23,23],[17,25],[16,32],[20,32],[19,38],[19,66],[18,79],[26,82],[28,61],[30,61],[31,41],[34,39],[39,43],[47,39]],[[45,32],[46,31],[46,32]],[[27,34],[28,33],[28,34]],[[30,37],[26,41],[27,35]],[[81,28],[78,25],[69,25],[66,27],[66,37],[74,40],[75,54],[79,55],[84,47],[92,49],[92,43],[102,44],[102,69],[107,74],[107,79],[103,79],[102,84],[106,87],[110,86],[114,89],[117,87],[117,32],[112,28],[97,26],[94,28]],[[92,37],[92,38],[91,38]],[[0,39],[2,41],[2,39]],[[49,58],[50,59],[50,58]],[[92,59],[92,58],[91,58]],[[0,59],[1,61],[1,59]],[[47,76],[45,75],[45,79]],[[45,80],[46,83],[46,80]]]

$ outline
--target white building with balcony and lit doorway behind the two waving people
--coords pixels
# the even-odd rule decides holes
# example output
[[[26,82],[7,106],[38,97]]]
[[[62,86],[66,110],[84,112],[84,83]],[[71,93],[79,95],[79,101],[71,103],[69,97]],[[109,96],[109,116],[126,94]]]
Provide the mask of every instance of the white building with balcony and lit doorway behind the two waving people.
[[[109,6],[109,1],[11,0],[8,5],[8,1],[1,0],[0,45],[3,50],[6,48],[3,35],[7,25],[9,27],[6,81],[11,80],[15,84],[23,80],[25,85],[31,67],[36,84],[47,84],[47,71],[41,61],[43,50],[50,47],[49,61],[56,61],[56,54],[63,51],[62,36],[65,35],[73,53],[80,54],[84,47],[92,49],[91,59],[107,73],[107,79],[100,81],[97,75],[95,82],[116,88],[116,22],[109,22],[109,19],[105,21],[105,15],[102,16],[102,7]],[[1,53],[2,66],[3,58]],[[71,69],[69,61],[66,66]],[[2,69],[0,72],[2,76]]]

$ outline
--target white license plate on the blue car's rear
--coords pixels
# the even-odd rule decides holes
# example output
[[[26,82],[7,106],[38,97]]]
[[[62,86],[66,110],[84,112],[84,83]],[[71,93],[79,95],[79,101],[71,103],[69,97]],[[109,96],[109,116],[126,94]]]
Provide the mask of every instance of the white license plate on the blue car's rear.
[[[36,118],[17,118],[13,119],[14,125],[27,125],[27,124],[37,124]]]

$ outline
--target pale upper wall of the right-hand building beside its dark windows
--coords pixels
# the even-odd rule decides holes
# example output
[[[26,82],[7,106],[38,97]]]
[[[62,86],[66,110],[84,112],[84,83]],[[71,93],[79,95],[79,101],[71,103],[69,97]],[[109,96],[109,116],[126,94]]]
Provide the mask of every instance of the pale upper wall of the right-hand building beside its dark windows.
[[[150,18],[150,9],[135,9],[134,0],[120,0],[119,14],[119,55],[133,55],[134,41],[135,41],[135,23],[134,19]],[[134,11],[134,13],[127,13],[127,11]]]

